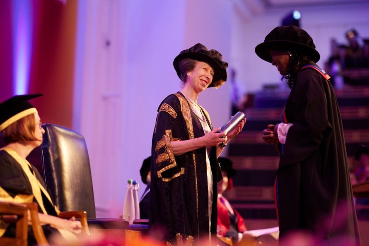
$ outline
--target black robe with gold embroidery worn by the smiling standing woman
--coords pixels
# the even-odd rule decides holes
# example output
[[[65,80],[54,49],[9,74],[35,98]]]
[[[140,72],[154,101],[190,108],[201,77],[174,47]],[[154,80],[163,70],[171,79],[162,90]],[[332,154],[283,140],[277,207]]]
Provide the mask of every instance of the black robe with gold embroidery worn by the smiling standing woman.
[[[208,113],[202,110],[212,128]],[[163,239],[173,243],[209,237],[209,229],[216,233],[216,186],[222,178],[216,148],[212,147],[209,156],[213,174],[209,228],[205,147],[174,156],[170,144],[201,136],[202,125],[183,94],[171,94],[160,103],[152,142],[149,226],[160,228]]]

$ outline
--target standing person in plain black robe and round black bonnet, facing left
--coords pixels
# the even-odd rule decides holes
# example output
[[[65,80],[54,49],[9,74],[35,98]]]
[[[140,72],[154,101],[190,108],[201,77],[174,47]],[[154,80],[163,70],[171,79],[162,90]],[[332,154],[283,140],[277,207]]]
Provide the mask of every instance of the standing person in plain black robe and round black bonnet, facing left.
[[[344,236],[355,242],[358,228],[342,121],[330,77],[310,35],[295,26],[277,27],[255,48],[275,65],[291,92],[283,122],[263,131],[280,153],[276,204],[280,236],[307,230],[321,240]],[[359,240],[357,240],[359,244]]]

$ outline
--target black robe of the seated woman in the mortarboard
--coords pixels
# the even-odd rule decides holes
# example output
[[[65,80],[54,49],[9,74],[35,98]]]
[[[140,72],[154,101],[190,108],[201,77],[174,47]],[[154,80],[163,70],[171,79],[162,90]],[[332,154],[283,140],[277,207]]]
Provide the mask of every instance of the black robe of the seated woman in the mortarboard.
[[[37,180],[46,189],[46,185],[37,169],[32,165],[31,167]],[[54,205],[48,200],[43,192],[41,192],[41,194],[42,201],[48,215],[57,216],[57,211],[55,210]],[[0,199],[15,203],[37,203],[36,199],[32,195],[31,183],[21,165],[4,150],[0,151]],[[43,213],[40,209],[40,206],[39,212]],[[58,230],[52,228],[50,225],[44,225],[42,228],[46,238],[53,233],[58,233]],[[28,231],[28,243],[31,245],[36,244],[31,226],[29,226]],[[9,226],[6,226],[6,231],[3,236],[14,237],[14,235],[15,225],[10,224]]]

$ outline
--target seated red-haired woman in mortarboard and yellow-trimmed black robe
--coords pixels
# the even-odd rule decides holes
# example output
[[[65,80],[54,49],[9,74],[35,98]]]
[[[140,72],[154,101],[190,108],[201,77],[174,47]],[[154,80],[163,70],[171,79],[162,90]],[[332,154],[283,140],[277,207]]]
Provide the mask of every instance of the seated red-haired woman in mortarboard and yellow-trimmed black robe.
[[[0,104],[0,132],[5,147],[0,149],[0,200],[14,203],[36,202],[38,218],[46,237],[60,232],[64,238],[70,232],[80,233],[81,223],[57,217],[58,208],[54,205],[37,169],[26,157],[42,143],[42,128],[36,108],[28,101],[41,96],[17,95]],[[55,229],[54,229],[55,228]],[[12,236],[12,225],[0,228],[0,236]],[[29,243],[35,244],[31,228]]]

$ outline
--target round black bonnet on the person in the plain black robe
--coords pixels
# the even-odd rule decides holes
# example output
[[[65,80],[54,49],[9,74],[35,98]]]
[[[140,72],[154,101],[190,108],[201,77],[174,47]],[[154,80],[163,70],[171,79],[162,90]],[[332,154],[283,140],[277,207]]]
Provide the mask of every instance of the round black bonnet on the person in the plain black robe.
[[[320,59],[310,35],[295,26],[276,27],[265,37],[264,42],[255,47],[256,55],[267,62],[272,62],[270,50],[295,51],[307,55],[313,62]]]

